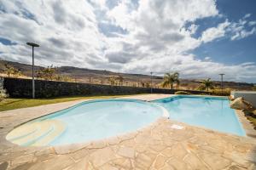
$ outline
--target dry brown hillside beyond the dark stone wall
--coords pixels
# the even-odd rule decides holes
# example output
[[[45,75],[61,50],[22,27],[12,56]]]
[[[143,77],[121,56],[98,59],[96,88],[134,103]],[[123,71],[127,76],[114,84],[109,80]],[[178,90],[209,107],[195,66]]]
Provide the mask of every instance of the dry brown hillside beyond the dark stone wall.
[[[26,65],[19,62],[12,62],[7,60],[0,60],[0,73],[3,73],[5,64],[11,65],[16,69],[20,70],[26,77],[32,77],[32,65]],[[42,66],[35,65],[35,71],[38,71]],[[104,70],[90,70],[86,68],[78,68],[73,66],[61,66],[56,68],[56,72],[63,76],[72,77],[77,82],[89,82],[89,83],[104,83],[108,84],[108,77],[110,76],[121,76],[124,78],[124,84],[128,86],[141,86],[140,82],[151,82],[149,75],[143,74],[128,74],[119,73],[113,71]],[[156,86],[162,82],[163,77],[153,77],[153,84]],[[195,89],[200,85],[200,80],[195,79],[181,79],[180,88]],[[220,82],[215,82],[217,86],[220,86]],[[251,89],[253,83],[247,82],[224,82],[225,88],[234,89]]]

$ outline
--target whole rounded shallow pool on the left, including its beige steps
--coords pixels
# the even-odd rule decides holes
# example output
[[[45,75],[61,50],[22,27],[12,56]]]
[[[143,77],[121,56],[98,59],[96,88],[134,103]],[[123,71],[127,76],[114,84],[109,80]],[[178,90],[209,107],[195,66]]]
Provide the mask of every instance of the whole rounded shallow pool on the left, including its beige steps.
[[[6,139],[23,146],[83,143],[135,131],[163,114],[159,105],[136,99],[92,100],[26,122]]]

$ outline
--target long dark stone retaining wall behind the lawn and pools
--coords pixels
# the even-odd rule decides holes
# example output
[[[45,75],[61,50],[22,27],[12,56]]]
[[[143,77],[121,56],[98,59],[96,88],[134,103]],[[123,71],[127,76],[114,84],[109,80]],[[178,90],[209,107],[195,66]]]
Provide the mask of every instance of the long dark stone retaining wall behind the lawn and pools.
[[[32,80],[5,77],[3,87],[10,97],[30,98],[32,96]],[[108,95],[108,94],[150,94],[150,88],[126,86],[110,86],[80,82],[54,82],[35,80],[37,98],[49,98],[72,95]],[[177,89],[153,88],[154,94],[174,94]],[[182,90],[191,94],[206,94],[203,91]]]

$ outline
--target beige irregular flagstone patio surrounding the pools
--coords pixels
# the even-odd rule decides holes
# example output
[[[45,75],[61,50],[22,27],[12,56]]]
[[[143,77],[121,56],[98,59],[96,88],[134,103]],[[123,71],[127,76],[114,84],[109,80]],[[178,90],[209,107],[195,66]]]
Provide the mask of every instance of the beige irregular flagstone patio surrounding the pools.
[[[151,100],[168,96],[130,98]],[[256,139],[166,118],[137,132],[84,144],[20,147],[5,139],[20,123],[81,101],[0,112],[0,169],[256,169]]]

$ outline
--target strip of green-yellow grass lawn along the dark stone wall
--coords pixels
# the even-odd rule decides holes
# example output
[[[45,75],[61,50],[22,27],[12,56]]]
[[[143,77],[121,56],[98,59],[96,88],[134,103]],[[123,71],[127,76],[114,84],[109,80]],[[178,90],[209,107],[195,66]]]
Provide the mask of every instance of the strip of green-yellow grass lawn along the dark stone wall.
[[[135,94],[137,95],[137,94]],[[131,96],[131,95],[108,95],[108,96],[76,96],[76,97],[61,97],[61,98],[50,98],[50,99],[3,99],[0,102],[0,111],[9,111],[14,109],[32,107],[37,105],[48,105],[48,104],[55,104],[61,103],[65,101],[73,101],[78,99],[109,99],[109,98],[118,98],[124,96]]]

